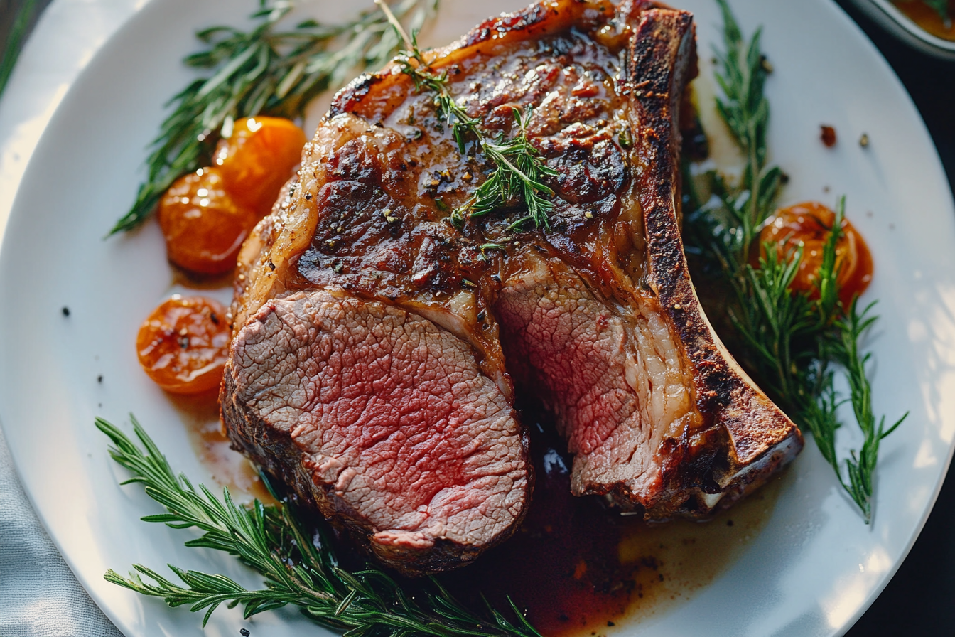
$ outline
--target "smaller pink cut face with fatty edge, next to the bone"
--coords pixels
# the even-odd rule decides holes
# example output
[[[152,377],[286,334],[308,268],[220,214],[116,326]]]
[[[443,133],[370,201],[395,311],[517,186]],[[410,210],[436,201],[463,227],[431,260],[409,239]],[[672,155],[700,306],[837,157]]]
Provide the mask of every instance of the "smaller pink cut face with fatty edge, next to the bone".
[[[540,260],[500,293],[508,360],[525,361],[531,372],[521,375],[534,379],[557,416],[575,455],[577,495],[651,493],[661,473],[652,452],[699,429],[686,391],[692,373],[650,303],[614,308],[559,260]]]

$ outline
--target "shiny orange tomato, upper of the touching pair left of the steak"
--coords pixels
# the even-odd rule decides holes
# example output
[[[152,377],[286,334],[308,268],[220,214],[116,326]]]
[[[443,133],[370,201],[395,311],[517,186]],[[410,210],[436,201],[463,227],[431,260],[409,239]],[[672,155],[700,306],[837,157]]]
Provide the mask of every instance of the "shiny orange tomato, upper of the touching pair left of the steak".
[[[236,201],[265,217],[302,160],[305,142],[305,133],[290,119],[247,117],[219,142],[213,161]]]

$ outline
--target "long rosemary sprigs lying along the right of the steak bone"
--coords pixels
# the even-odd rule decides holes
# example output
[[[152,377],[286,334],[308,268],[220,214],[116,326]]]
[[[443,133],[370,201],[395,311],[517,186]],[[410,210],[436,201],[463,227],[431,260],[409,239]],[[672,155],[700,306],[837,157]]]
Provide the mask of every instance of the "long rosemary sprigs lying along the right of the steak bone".
[[[870,314],[872,305],[859,311],[858,299],[848,308],[839,301],[837,244],[845,200],[838,202],[812,292],[791,287],[802,258],[801,246],[780,253],[774,244],[763,244],[758,246],[762,253],[758,265],[751,265],[759,230],[775,210],[783,174],[778,167],[766,166],[769,106],[763,84],[768,70],[759,49],[759,32],[746,42],[726,0],[717,2],[723,13],[724,49],[716,52],[720,66],[716,80],[723,93],[716,105],[746,163],[737,185],[715,172],[695,178],[688,174],[685,236],[690,249],[723,272],[732,287],[728,312],[741,340],[742,361],[775,402],[812,431],[822,456],[868,523],[879,444],[905,415],[888,429],[884,417],[876,424],[866,376],[871,354],[859,348],[876,317]],[[715,197],[704,202],[694,181],[705,181]],[[836,391],[834,365],[845,372],[848,402],[863,435],[859,454],[853,451],[844,458],[848,479],[843,478],[836,450],[841,426],[838,407],[846,401]]]

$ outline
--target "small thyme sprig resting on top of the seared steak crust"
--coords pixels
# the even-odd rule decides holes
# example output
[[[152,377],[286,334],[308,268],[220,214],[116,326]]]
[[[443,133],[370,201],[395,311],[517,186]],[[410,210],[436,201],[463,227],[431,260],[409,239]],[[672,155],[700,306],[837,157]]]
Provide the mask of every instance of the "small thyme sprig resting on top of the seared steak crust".
[[[386,14],[391,14],[382,0],[375,0],[375,4]],[[505,139],[503,134],[496,139],[487,138],[480,128],[480,120],[470,117],[451,95],[447,72],[435,71],[427,62],[418,48],[417,34],[413,32],[409,36],[393,16],[390,21],[406,47],[398,53],[395,62],[402,73],[412,78],[416,91],[427,90],[434,94],[435,111],[451,128],[458,152],[461,155],[467,153],[467,140],[473,138],[484,159],[494,166],[471,197],[452,211],[451,222],[460,226],[472,217],[488,215],[505,206],[523,205],[527,214],[511,223],[509,229],[518,229],[527,222],[550,229],[549,216],[554,203],[549,198],[553,197],[554,190],[543,182],[543,178],[556,177],[558,173],[544,162],[540,151],[527,138],[532,108],[513,109],[517,123],[517,133],[513,138]]]

